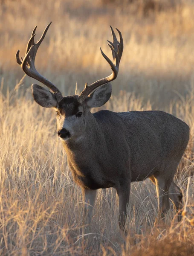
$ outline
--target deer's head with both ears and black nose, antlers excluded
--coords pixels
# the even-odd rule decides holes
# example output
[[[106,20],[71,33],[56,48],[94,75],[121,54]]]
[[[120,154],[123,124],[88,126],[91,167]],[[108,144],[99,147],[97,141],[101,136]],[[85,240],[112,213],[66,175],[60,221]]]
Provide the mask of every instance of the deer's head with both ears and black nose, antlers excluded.
[[[54,108],[57,115],[57,131],[61,140],[76,139],[84,134],[87,122],[90,122],[90,108],[104,105],[111,96],[111,84],[98,87],[83,103],[78,95],[63,97],[57,101],[55,94],[40,85],[32,84],[32,93],[39,105]]]

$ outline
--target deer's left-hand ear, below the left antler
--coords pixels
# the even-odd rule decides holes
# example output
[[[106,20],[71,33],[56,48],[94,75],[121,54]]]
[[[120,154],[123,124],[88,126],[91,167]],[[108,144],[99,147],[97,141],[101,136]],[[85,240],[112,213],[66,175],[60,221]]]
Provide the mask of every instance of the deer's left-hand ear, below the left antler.
[[[44,108],[56,108],[58,105],[55,94],[38,84],[32,84],[32,94],[35,102]]]

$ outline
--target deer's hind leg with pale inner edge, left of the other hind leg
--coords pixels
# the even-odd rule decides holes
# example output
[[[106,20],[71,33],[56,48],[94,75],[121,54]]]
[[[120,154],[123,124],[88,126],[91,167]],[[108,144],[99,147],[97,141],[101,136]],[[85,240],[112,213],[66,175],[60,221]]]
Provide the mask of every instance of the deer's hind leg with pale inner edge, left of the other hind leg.
[[[166,212],[170,208],[169,188],[171,180],[166,180],[164,177],[155,177],[156,194],[158,197],[158,217],[163,219]]]

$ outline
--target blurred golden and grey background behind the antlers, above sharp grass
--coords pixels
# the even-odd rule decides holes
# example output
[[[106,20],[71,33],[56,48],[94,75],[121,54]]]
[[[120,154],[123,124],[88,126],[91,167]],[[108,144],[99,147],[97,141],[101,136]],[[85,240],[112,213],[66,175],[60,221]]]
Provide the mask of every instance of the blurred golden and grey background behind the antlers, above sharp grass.
[[[194,89],[193,14],[193,0],[1,0],[1,87],[5,93],[23,77],[15,53],[20,49],[23,56],[32,29],[38,25],[38,40],[50,21],[36,58],[41,74],[64,95],[75,92],[76,81],[82,90],[85,82],[108,76],[99,47],[111,58],[111,25],[124,38],[113,95],[132,92],[165,110]],[[27,89],[33,82],[25,77],[21,85]]]

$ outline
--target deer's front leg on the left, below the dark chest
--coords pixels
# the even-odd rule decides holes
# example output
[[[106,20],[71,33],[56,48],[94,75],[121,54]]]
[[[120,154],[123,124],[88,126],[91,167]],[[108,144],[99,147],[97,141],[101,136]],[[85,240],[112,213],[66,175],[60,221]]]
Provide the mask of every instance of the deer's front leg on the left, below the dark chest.
[[[82,189],[84,198],[84,224],[90,224],[93,217],[93,206],[96,200],[97,190],[93,189]]]

